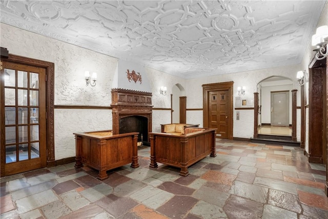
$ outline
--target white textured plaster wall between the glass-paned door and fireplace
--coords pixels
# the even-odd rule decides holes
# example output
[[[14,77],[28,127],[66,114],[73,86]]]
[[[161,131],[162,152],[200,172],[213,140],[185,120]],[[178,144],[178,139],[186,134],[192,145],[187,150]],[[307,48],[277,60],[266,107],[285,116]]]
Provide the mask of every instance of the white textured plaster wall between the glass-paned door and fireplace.
[[[1,46],[11,54],[55,64],[54,104],[109,106],[117,59],[1,24]],[[86,86],[85,71],[97,72]],[[55,109],[55,160],[75,156],[73,132],[111,129],[111,110]]]

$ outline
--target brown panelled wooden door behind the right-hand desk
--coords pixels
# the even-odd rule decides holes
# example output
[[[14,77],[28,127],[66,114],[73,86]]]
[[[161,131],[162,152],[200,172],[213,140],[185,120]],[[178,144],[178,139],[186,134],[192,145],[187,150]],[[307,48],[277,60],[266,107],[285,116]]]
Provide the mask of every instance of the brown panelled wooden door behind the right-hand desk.
[[[219,90],[209,93],[210,128],[216,128],[216,136],[228,138],[229,133],[229,91]]]

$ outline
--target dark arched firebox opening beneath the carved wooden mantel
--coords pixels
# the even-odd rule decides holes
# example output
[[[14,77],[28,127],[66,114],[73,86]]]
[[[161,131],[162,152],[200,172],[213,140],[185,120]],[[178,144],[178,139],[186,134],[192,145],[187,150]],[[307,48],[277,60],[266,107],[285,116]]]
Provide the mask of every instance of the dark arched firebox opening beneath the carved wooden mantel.
[[[139,132],[138,146],[147,145],[148,142],[148,118],[140,115],[130,115],[119,119],[119,133]]]

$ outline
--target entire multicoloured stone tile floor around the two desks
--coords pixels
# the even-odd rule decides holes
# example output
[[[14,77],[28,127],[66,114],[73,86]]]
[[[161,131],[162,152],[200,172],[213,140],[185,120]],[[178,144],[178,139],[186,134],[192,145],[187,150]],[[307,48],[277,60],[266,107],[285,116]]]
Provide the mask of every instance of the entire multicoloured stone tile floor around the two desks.
[[[217,156],[189,168],[97,171],[74,163],[1,178],[3,218],[328,218],[325,166],[291,146],[216,141]]]

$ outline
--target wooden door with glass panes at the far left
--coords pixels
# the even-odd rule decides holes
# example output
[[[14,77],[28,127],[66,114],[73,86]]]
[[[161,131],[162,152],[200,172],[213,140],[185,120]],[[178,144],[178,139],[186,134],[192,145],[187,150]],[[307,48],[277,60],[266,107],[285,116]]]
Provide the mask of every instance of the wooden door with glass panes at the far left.
[[[1,175],[46,167],[46,69],[3,61],[1,78]]]

